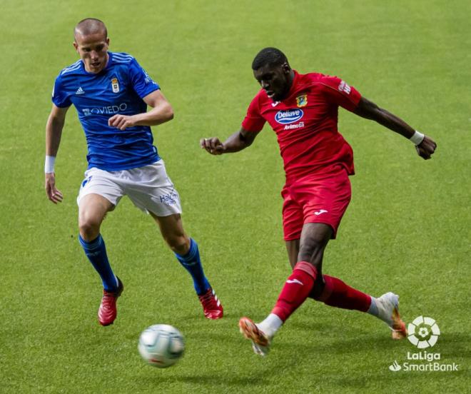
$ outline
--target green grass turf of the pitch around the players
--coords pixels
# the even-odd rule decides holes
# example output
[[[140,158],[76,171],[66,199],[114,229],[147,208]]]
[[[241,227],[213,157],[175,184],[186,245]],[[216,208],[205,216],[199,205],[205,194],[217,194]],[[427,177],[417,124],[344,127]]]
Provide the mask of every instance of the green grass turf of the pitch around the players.
[[[470,387],[470,2],[0,1],[0,393],[465,393]],[[76,193],[86,146],[69,111],[56,164],[64,203],[43,190],[44,124],[54,78],[73,63],[71,30],[103,19],[111,50],[154,76],[176,117],[153,128],[183,198],[186,229],[226,308],[202,318],[191,280],[149,218],[124,200],[103,224],[126,291],[116,323],[96,322],[100,281],[77,242]],[[341,111],[355,151],[353,201],[324,271],[364,291],[401,296],[407,322],[437,320],[433,351],[454,373],[400,371],[414,348],[369,315],[305,303],[268,358],[238,333],[288,276],[283,168],[268,128],[233,156],[203,136],[236,130],[258,90],[250,62],[278,46],[301,72],[343,77],[429,133],[431,161],[380,126]],[[155,323],[186,336],[184,358],[156,370],[137,352]]]

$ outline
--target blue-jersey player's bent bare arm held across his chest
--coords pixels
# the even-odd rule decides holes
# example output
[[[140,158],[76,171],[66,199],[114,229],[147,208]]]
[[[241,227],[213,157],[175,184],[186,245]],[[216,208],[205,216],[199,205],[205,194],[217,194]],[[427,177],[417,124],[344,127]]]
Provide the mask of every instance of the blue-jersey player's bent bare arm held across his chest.
[[[143,101],[151,107],[150,111],[131,116],[116,114],[108,119],[108,125],[126,130],[133,126],[156,126],[173,119],[173,108],[160,89],[144,96]]]

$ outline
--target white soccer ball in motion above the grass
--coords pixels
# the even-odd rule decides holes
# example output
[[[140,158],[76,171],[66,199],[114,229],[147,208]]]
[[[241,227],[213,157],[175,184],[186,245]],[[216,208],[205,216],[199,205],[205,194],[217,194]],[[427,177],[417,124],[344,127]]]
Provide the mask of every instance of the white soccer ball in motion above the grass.
[[[185,351],[183,335],[168,324],[156,324],[141,333],[139,353],[148,364],[167,368],[175,364]]]

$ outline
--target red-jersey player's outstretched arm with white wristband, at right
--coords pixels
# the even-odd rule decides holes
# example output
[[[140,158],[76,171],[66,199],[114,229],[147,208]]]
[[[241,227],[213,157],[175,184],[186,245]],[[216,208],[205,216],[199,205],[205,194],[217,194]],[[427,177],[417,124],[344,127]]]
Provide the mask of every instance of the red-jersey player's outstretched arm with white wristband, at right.
[[[368,100],[368,98],[360,98],[360,102],[353,112],[362,118],[376,121],[405,138],[412,138],[411,141],[415,143],[417,153],[420,157],[425,158],[425,160],[430,158],[437,148],[437,144],[432,138],[425,135],[422,138],[421,133],[416,132],[414,128],[401,118],[386,111],[384,108],[380,108],[373,101]]]

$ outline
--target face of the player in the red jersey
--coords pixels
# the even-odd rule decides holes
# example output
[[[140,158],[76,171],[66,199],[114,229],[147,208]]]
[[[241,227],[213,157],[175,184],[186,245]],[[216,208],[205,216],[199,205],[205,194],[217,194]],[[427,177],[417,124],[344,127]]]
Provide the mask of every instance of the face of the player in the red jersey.
[[[293,82],[287,63],[281,66],[263,66],[253,71],[253,76],[273,101],[282,101],[288,95]]]

